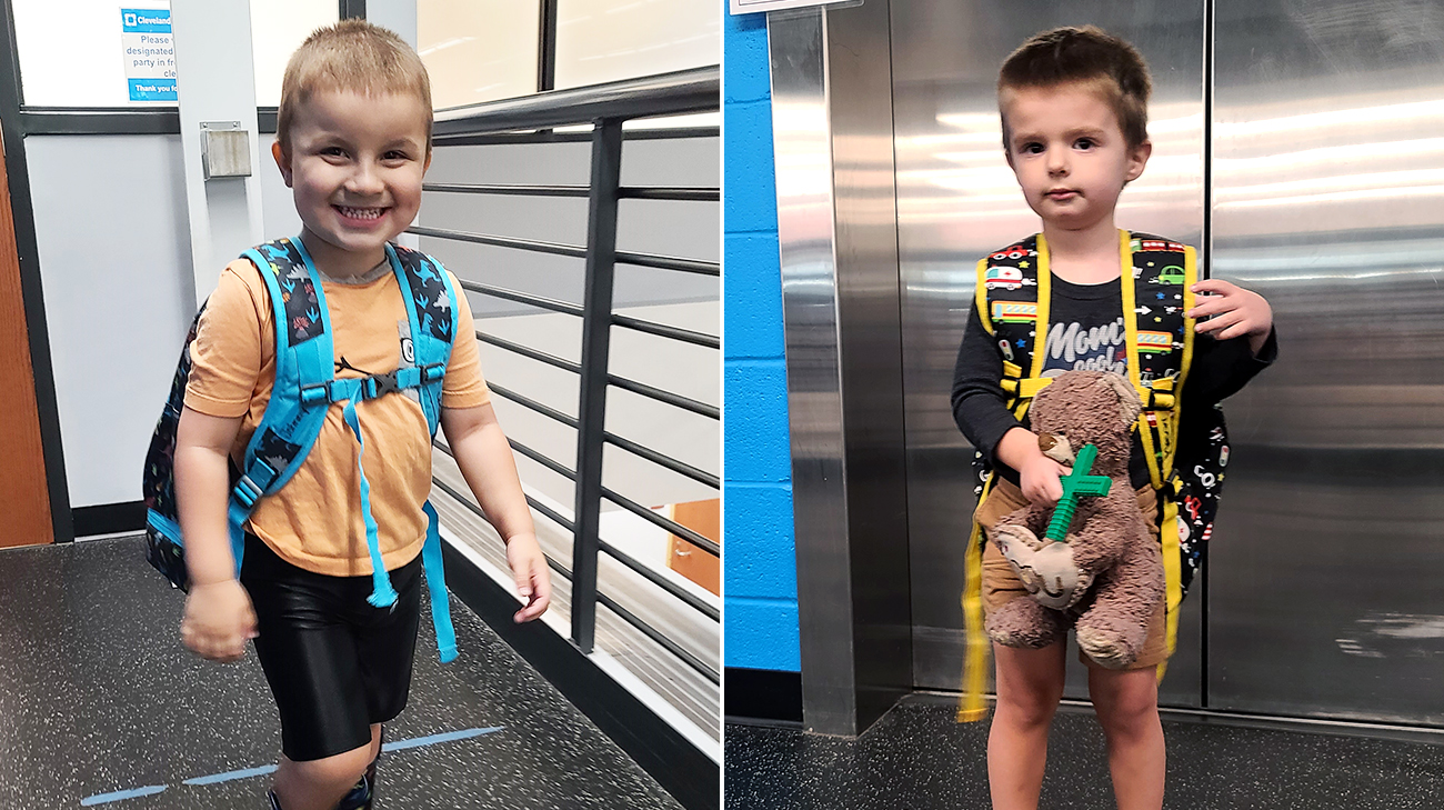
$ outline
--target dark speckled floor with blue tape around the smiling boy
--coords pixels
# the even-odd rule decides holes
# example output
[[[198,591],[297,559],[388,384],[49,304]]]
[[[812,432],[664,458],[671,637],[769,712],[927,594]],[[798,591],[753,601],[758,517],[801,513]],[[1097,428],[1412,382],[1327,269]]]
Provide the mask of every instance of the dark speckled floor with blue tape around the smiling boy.
[[[264,775],[182,784],[280,751],[254,653],[192,657],[182,601],[139,539],[0,550],[0,807],[79,807],[146,785],[168,787],[98,807],[266,806]],[[452,611],[462,657],[436,661],[423,615],[410,703],[387,741],[504,728],[386,754],[378,809],[680,807],[465,605]]]

